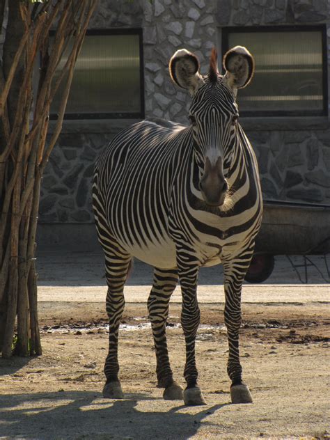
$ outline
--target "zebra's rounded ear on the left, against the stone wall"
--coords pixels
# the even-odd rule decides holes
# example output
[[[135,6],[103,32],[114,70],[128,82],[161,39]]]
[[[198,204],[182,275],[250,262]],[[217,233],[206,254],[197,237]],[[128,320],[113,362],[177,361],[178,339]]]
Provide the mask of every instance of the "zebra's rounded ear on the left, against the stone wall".
[[[186,49],[180,49],[172,56],[168,64],[171,79],[181,88],[185,88],[191,95],[203,84],[199,73],[199,61],[196,55]]]

